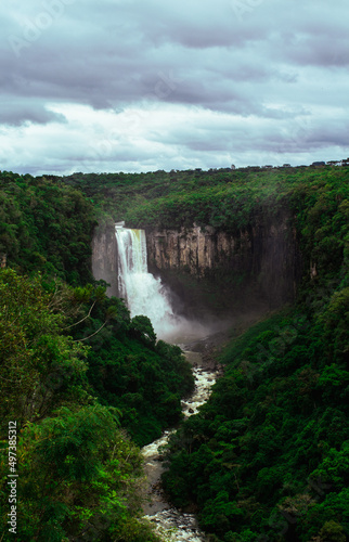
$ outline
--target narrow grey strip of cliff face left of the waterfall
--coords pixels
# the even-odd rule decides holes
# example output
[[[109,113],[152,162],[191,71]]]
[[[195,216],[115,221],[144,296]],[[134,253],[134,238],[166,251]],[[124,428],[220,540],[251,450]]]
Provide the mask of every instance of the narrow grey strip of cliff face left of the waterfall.
[[[92,273],[96,281],[106,281],[108,296],[118,295],[117,246],[114,228],[99,229],[92,238]]]

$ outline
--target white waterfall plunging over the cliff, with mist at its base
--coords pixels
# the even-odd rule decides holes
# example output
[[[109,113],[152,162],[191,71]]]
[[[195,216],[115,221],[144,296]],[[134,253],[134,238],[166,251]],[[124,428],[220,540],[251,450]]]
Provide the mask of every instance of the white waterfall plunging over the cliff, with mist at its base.
[[[115,225],[118,250],[118,284],[131,318],[147,317],[158,339],[174,344],[189,343],[211,333],[199,322],[190,321],[173,312],[170,293],[159,279],[147,271],[144,230]]]

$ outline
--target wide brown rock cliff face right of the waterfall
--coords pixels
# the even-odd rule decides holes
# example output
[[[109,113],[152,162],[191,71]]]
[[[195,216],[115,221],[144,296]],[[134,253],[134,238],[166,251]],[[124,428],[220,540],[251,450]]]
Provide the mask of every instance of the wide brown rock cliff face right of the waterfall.
[[[295,297],[300,253],[288,217],[232,235],[209,227],[147,231],[150,270],[193,309],[236,304],[272,309]],[[204,292],[204,297],[198,291]]]

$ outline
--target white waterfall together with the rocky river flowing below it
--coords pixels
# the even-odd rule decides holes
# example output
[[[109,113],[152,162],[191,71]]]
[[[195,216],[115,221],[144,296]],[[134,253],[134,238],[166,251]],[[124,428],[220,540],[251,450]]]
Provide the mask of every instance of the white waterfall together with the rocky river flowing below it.
[[[182,401],[184,417],[189,417],[207,401],[218,376],[219,370],[215,363],[207,363],[207,360],[204,360],[205,354],[202,357],[199,353],[207,348],[207,340],[210,341],[207,333],[214,333],[215,326],[210,323],[207,328],[198,322],[174,314],[168,288],[147,270],[144,230],[125,228],[124,222],[118,222],[115,224],[115,236],[118,251],[118,288],[120,296],[127,301],[131,317],[148,317],[157,337],[179,345],[193,365],[195,391],[190,399]],[[184,346],[195,344],[193,340],[198,340],[197,347]],[[142,449],[150,496],[148,504],[144,505],[144,514],[156,525],[158,531],[167,531],[164,537],[166,542],[202,542],[205,541],[205,534],[198,529],[195,516],[182,514],[171,507],[160,491],[164,467],[159,448],[166,444],[170,433],[166,431],[160,439]]]

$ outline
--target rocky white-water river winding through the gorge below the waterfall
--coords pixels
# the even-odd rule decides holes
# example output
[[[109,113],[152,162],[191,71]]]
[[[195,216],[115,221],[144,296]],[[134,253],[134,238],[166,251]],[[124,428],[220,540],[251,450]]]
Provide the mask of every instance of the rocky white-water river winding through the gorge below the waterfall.
[[[199,357],[197,352],[184,352],[188,357]],[[182,401],[184,417],[189,417],[198,412],[198,408],[204,404],[210,395],[211,386],[218,376],[218,371],[209,371],[203,367],[193,369],[195,377],[195,390],[185,401]],[[145,473],[150,486],[150,504],[144,506],[145,518],[156,526],[157,532],[164,542],[204,542],[205,533],[198,528],[194,514],[183,514],[170,507],[164,500],[159,490],[159,480],[164,467],[161,464],[160,448],[167,443],[169,436],[174,433],[167,430],[163,437],[155,440],[142,449],[145,459]]]

